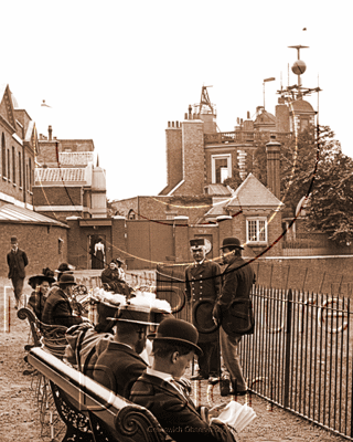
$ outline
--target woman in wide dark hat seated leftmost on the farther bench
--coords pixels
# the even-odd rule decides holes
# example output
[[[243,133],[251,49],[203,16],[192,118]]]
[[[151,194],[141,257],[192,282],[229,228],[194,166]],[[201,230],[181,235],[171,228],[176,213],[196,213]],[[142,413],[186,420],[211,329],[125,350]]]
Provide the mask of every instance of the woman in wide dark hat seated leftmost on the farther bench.
[[[54,282],[54,272],[49,267],[43,269],[41,275],[34,275],[29,278],[29,284],[34,292],[31,293],[28,305],[32,308],[40,320],[42,320],[42,314],[49,291]]]

